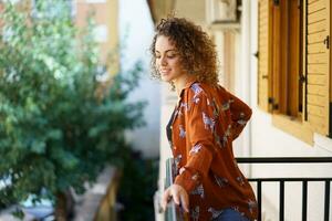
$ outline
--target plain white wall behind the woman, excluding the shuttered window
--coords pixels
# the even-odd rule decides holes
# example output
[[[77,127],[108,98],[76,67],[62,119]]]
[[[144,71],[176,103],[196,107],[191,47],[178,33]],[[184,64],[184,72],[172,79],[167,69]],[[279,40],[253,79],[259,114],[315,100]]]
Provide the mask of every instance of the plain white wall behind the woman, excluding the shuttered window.
[[[273,116],[258,107],[258,59],[255,54],[258,51],[259,12],[258,1],[242,1],[241,22],[238,31],[235,31],[232,41],[235,50],[234,85],[232,92],[242,98],[253,110],[252,118],[247,125],[241,137],[235,141],[236,156],[246,157],[328,157],[332,156],[332,140],[314,134],[313,145],[283,131],[273,126]],[[178,1],[180,2],[180,1]],[[176,3],[178,6],[179,3]],[[200,1],[199,1],[200,2]],[[186,7],[184,7],[186,8]],[[189,19],[199,18],[201,9],[191,9],[187,4],[186,13]],[[197,10],[197,11],[195,11]],[[209,13],[207,11],[207,13]],[[178,11],[177,15],[181,15]],[[204,22],[203,22],[204,23]],[[214,38],[221,66],[225,66],[227,56],[225,50],[225,34],[219,30],[209,30]],[[261,24],[262,25],[262,24]],[[268,25],[266,23],[266,25]],[[266,45],[268,46],[268,45]],[[266,49],[268,51],[268,49]],[[262,51],[260,53],[263,53]],[[264,55],[264,54],[262,54]],[[222,74],[222,73],[221,73]],[[221,83],[222,83],[221,75]],[[225,81],[227,82],[227,81]],[[229,86],[229,87],[231,87]],[[164,189],[165,160],[170,157],[164,128],[168,123],[172,113],[172,102],[176,95],[170,95],[165,86],[162,92],[162,130],[160,130],[160,171],[159,189]],[[298,165],[298,166],[250,166],[243,167],[248,177],[332,177],[331,165]],[[253,186],[255,187],[255,186]],[[309,185],[308,220],[322,220],[323,217],[323,186],[322,183]],[[263,220],[278,220],[279,213],[279,189],[278,185],[263,185]],[[301,220],[301,186],[299,183],[286,185],[286,220]],[[330,203],[332,210],[332,203]],[[330,211],[331,211],[330,210]],[[159,217],[158,220],[162,220]]]

